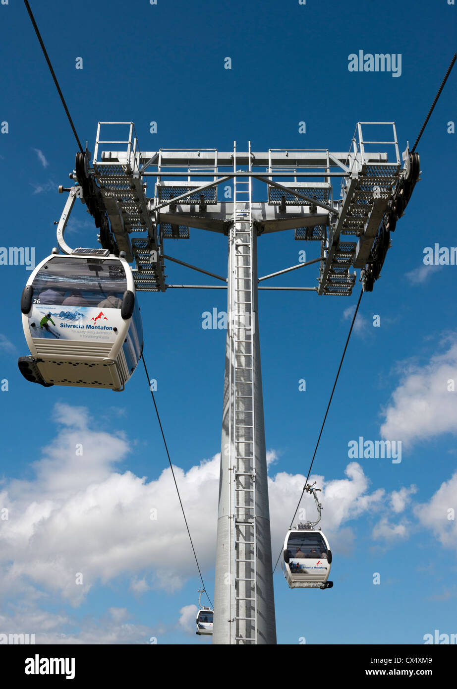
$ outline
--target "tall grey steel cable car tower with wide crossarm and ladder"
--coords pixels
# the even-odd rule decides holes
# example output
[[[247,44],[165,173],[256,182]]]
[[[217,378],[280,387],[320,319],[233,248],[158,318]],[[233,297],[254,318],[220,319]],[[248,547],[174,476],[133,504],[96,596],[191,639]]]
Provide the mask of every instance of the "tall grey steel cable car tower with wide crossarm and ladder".
[[[120,125],[127,128],[125,139],[101,138],[102,127],[106,131],[113,125],[116,132]],[[374,134],[364,139],[363,130],[372,127],[387,130],[388,138]],[[380,150],[369,151],[373,145]],[[71,249],[63,243],[63,231],[80,198],[100,229],[103,249],[135,264],[137,292],[227,290],[213,643],[276,644],[258,290],[349,296],[360,268],[363,289],[371,291],[390,232],[418,181],[418,154],[407,146],[402,165],[392,122],[358,123],[348,152],[252,152],[250,144],[241,152],[236,144],[229,152],[141,152],[133,123],[99,123],[92,165],[90,160],[86,146],[70,174],[76,187],[59,189],[68,192],[57,230],[65,253]],[[152,198],[146,195],[150,177],[155,179]],[[253,199],[254,178],[265,183],[266,201]],[[334,178],[341,181],[337,199]],[[232,200],[219,200],[220,185],[225,185],[225,198],[230,181]],[[191,227],[227,238],[227,277],[165,253],[166,241],[189,239]],[[295,240],[317,245],[316,257],[259,277],[258,238],[287,229],[294,230]],[[167,282],[165,261],[212,276],[223,285]],[[263,285],[269,278],[314,264],[316,286]]]

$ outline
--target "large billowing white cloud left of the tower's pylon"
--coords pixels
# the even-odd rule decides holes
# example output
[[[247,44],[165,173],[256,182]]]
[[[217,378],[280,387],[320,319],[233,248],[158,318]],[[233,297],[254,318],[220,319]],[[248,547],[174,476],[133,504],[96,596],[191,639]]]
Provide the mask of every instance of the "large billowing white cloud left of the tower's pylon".
[[[131,449],[122,433],[93,429],[87,410],[64,404],[54,420],[58,431],[48,429],[34,478],[3,482],[9,519],[0,521],[0,593],[21,593],[31,582],[78,605],[94,584],[141,577],[151,563],[153,588],[181,588],[195,564],[170,469],[150,482],[116,471]],[[219,455],[174,471],[205,570],[214,564]],[[170,548],[179,553],[171,562]]]

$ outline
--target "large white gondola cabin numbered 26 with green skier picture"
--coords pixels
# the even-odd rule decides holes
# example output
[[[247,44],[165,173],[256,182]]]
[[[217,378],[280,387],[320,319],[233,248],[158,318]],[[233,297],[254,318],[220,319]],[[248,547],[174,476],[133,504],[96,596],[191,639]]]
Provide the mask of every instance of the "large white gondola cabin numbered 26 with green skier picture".
[[[21,311],[30,356],[18,364],[31,382],[119,391],[141,358],[132,270],[106,249],[45,258],[23,289]]]

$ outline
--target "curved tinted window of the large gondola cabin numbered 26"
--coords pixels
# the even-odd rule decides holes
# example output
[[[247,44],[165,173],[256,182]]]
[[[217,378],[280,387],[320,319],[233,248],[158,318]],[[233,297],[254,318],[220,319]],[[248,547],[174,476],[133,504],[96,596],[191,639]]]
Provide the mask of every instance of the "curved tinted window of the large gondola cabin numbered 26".
[[[127,278],[119,260],[59,256],[41,267],[32,286],[36,304],[120,309]]]

